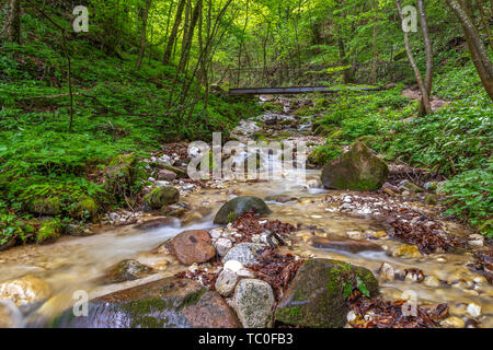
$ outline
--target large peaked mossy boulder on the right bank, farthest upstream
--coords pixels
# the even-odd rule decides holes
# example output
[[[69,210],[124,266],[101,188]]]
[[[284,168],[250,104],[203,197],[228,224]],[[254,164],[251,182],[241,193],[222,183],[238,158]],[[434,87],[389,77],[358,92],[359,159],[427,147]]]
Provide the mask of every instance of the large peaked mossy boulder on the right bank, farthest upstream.
[[[363,142],[322,168],[322,184],[331,189],[376,190],[388,176],[386,162]]]

